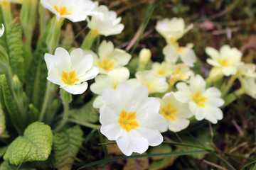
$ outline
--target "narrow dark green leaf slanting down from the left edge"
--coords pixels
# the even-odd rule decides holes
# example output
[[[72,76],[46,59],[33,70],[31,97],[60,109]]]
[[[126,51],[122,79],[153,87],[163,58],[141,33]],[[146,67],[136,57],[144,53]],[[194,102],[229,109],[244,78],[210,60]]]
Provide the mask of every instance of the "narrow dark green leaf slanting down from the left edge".
[[[6,77],[4,74],[0,75],[0,87],[1,87],[1,102],[4,101],[4,106],[6,107],[11,122],[14,126],[16,126],[18,129],[23,130],[23,125],[21,122],[21,116],[18,113],[18,108],[16,106],[16,102],[14,101],[14,98],[11,96],[11,91],[9,89],[9,86],[6,81]],[[3,100],[3,101],[2,101]],[[2,103],[3,104],[3,103]]]

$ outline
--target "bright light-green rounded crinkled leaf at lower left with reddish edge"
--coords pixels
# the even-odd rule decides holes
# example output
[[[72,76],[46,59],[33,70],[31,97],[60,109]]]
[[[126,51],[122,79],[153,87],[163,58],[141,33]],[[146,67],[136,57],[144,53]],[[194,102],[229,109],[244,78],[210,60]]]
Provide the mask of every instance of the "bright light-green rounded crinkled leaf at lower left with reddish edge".
[[[50,126],[41,122],[28,125],[23,136],[17,137],[9,145],[4,160],[19,165],[24,162],[46,161],[53,145]]]

